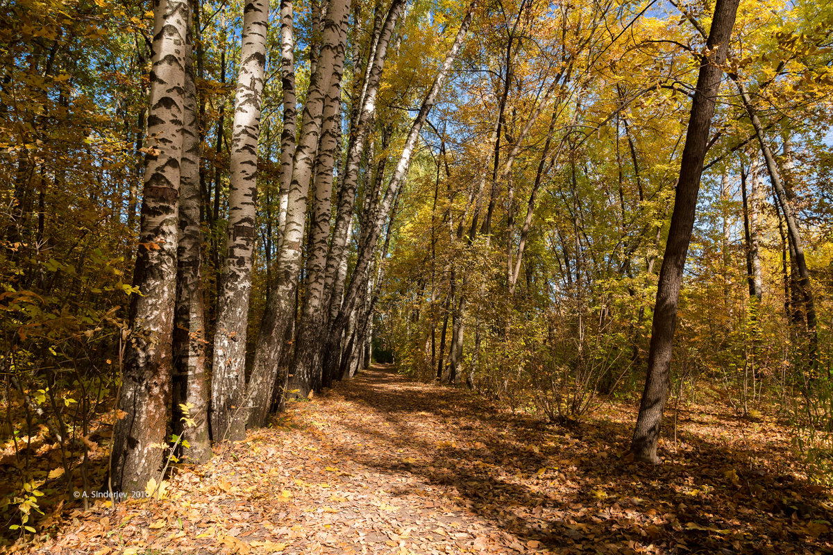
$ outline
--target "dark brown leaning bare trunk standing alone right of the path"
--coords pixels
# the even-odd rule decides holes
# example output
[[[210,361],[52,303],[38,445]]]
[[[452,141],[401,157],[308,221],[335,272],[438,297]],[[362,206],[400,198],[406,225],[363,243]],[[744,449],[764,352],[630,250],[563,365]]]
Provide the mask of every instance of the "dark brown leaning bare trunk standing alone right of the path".
[[[674,343],[682,273],[686,265],[691,230],[694,227],[711,116],[721,84],[720,66],[726,60],[729,50],[738,2],[739,0],[717,0],[707,41],[709,55],[702,60],[703,65],[697,77],[691,118],[686,131],[686,146],[682,152],[680,179],[677,181],[674,211],[671,214],[671,227],[656,291],[645,391],[642,393],[639,416],[631,442],[631,454],[638,461],[659,461],[656,457],[656,444],[660,438],[662,412],[665,409],[671,381],[671,349]]]

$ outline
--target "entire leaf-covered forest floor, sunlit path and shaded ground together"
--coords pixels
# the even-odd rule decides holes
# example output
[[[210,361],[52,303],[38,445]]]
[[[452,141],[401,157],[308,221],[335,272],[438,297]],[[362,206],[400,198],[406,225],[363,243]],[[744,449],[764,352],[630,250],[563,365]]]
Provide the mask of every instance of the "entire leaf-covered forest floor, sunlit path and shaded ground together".
[[[673,418],[673,417],[672,417]],[[167,498],[63,508],[29,553],[833,553],[786,429],[681,410],[656,467],[634,412],[560,427],[375,366],[180,468]],[[12,548],[13,549],[13,548]]]

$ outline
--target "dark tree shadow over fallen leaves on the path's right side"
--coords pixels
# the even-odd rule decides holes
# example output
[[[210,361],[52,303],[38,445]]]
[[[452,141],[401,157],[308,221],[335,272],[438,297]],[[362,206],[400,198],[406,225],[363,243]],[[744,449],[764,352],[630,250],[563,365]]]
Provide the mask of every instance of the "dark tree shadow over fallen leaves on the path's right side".
[[[471,392],[414,384],[383,366],[329,395],[357,404],[357,414],[342,422],[354,438],[340,446],[355,462],[441,486],[461,509],[523,545],[591,553],[833,553],[827,490],[767,461],[788,457],[786,445],[773,450],[747,441],[738,449],[683,424],[676,453],[643,466],[621,460],[631,429],[605,414],[564,429],[506,413]],[[368,411],[386,425],[368,429]]]

